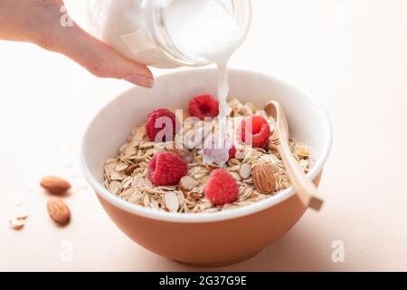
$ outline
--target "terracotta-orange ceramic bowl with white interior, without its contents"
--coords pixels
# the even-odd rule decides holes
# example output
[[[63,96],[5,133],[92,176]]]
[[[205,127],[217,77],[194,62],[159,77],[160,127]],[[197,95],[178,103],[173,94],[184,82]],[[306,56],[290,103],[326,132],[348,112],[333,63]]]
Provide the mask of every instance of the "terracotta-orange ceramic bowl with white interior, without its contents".
[[[287,113],[291,137],[311,150],[308,178],[321,179],[332,144],[327,114],[307,92],[292,83],[262,73],[231,70],[230,95],[261,107],[280,102]],[[187,109],[196,94],[216,95],[213,69],[170,73],[154,89],[134,87],[109,102],[90,122],[82,141],[85,177],[102,207],[123,233],[148,250],[196,266],[227,265],[259,253],[282,237],[303,216],[293,189],[242,208],[214,213],[171,213],[143,208],[109,193],[103,186],[105,160],[116,156],[133,127],[156,108]]]

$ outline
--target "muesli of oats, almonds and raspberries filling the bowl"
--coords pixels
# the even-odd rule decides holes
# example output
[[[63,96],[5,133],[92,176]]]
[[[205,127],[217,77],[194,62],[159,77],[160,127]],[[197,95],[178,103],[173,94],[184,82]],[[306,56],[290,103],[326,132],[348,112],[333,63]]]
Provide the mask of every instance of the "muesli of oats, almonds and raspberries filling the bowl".
[[[268,146],[273,118],[250,102],[233,98],[228,105],[226,135],[222,135],[226,140],[221,140],[228,154],[225,164],[217,160],[225,150],[205,147],[208,140],[215,140],[221,123],[214,98],[201,95],[190,102],[189,114],[178,118],[179,113],[160,109],[150,113],[146,124],[134,128],[118,156],[106,160],[106,189],[145,208],[179,213],[240,208],[288,189],[289,177],[279,153]],[[170,122],[152,127],[157,116]],[[194,116],[195,121],[185,121],[187,116]],[[173,130],[158,136],[165,123]],[[248,124],[252,128],[244,129]],[[237,134],[233,133],[236,129]],[[251,140],[242,137],[245,130],[251,132]],[[159,140],[152,138],[157,136]],[[308,148],[294,140],[289,145],[307,173],[311,166]]]

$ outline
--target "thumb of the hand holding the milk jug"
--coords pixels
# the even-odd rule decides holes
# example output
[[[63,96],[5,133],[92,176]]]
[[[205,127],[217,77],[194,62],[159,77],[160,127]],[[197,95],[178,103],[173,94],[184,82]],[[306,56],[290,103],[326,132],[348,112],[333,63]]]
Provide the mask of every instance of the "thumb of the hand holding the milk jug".
[[[86,33],[77,24],[57,29],[53,51],[63,53],[90,73],[102,78],[126,80],[151,88],[154,77],[146,65],[135,63],[113,50],[108,44]]]

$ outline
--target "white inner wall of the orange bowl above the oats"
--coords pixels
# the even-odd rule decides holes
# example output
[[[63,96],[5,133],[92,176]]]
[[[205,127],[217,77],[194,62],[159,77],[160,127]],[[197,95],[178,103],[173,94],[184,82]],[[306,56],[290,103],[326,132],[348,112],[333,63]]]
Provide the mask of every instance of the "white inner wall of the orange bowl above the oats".
[[[297,86],[261,73],[231,70],[229,82],[230,95],[243,102],[253,102],[259,107],[270,100],[282,104],[291,136],[311,149],[314,168],[309,177],[315,178],[327,160],[332,141],[330,123],[319,104]],[[203,69],[170,73],[156,80],[154,89],[134,87],[122,93],[99,111],[84,136],[82,162],[85,175],[91,183],[97,180],[98,189],[101,189],[105,160],[115,157],[129,132],[145,121],[149,111],[186,109],[194,95],[216,95],[216,90],[216,71]]]

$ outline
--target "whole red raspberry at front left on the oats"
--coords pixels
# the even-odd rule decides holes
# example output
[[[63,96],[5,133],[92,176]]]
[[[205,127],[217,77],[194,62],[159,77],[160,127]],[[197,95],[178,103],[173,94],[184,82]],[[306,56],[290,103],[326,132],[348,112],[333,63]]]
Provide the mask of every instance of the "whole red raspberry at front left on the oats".
[[[177,185],[187,172],[186,162],[171,152],[157,152],[148,163],[148,176],[156,186]]]

